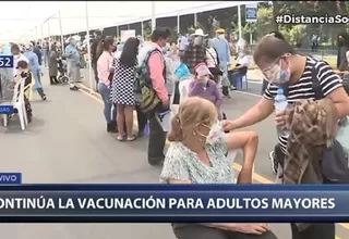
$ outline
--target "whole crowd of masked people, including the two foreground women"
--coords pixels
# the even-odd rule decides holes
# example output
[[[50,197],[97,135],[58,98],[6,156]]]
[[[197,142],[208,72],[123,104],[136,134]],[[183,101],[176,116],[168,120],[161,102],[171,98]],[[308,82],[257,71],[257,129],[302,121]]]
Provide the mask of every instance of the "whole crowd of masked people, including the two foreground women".
[[[279,33],[270,33],[258,41],[253,53],[254,63],[265,77],[263,97],[240,117],[227,120],[222,99],[242,87],[250,60],[241,49],[231,68],[225,30],[218,29],[216,34],[210,39],[196,29],[188,38],[169,43],[170,30],[156,28],[151,42],[130,37],[116,43],[113,38],[96,32],[91,60],[96,90],[104,101],[107,131],[117,134],[122,142],[134,141],[148,133],[147,159],[151,165],[163,166],[160,180],[165,184],[252,184],[258,136],[255,131],[236,129],[273,114],[275,98],[282,89],[289,106],[276,111],[275,124],[288,134],[279,134],[270,153],[277,177],[284,184],[349,184],[349,169],[337,171],[334,165],[345,161],[348,165],[349,152],[348,143],[336,138],[340,128],[349,127],[348,88],[338,74],[326,62],[297,52]],[[338,58],[342,59],[338,68],[346,71],[349,45],[345,35],[339,37],[339,42]],[[13,75],[25,77],[25,84],[33,84],[46,100],[40,61],[47,62],[53,85],[59,83],[59,62],[64,59],[70,89],[79,89],[75,84],[81,80],[82,53],[75,40],[69,41],[64,52],[60,52],[59,43],[43,49],[47,53],[40,55],[43,50],[34,42],[23,51],[13,43]],[[32,111],[28,97],[26,101]],[[133,131],[134,111],[137,134]],[[171,113],[168,130],[164,118]],[[165,155],[167,139],[171,143]],[[243,151],[238,176],[227,158],[229,151],[237,149]],[[178,239],[276,238],[266,224],[173,224],[172,227]],[[291,224],[291,231],[292,239],[334,239],[335,224]]]

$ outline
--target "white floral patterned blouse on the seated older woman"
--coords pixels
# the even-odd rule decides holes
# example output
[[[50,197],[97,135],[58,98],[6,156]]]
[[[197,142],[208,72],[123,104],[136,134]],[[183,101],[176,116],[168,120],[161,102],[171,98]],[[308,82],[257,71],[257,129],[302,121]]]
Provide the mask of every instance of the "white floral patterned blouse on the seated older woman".
[[[172,142],[166,153],[160,181],[191,180],[192,184],[234,184],[231,162],[228,161],[227,139],[222,134],[213,144],[206,144],[210,166],[182,142]]]

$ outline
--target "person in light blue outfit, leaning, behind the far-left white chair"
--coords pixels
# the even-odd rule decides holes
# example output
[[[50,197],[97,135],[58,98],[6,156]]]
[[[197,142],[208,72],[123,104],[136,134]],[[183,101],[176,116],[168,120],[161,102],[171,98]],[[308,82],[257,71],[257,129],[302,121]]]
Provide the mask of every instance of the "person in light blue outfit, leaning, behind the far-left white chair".
[[[46,100],[46,95],[44,92],[44,88],[41,85],[40,76],[43,74],[41,67],[39,65],[39,61],[37,58],[37,54],[34,53],[33,51],[33,45],[29,45],[24,52],[24,55],[28,59],[28,63],[31,66],[31,71],[34,75],[34,81],[35,81],[35,89],[39,93],[43,100]]]

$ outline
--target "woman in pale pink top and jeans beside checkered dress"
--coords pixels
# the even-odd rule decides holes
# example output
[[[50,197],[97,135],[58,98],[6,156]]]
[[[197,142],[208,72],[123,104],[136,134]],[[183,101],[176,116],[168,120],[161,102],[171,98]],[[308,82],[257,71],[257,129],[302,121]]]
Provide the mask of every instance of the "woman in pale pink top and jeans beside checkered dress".
[[[116,108],[112,108],[112,102],[110,100],[111,81],[109,78],[112,64],[113,39],[107,38],[105,40],[101,40],[99,43],[101,46],[99,46],[98,48],[104,49],[104,51],[97,61],[97,89],[105,104],[104,114],[107,122],[107,131],[117,133],[117,112]]]

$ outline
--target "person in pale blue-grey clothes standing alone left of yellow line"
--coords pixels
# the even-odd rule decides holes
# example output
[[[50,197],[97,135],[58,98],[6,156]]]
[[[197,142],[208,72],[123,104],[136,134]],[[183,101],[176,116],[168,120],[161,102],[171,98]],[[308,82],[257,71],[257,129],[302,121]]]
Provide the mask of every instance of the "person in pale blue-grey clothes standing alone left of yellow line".
[[[65,47],[67,58],[67,72],[69,77],[69,84],[71,90],[79,90],[79,87],[75,85],[81,80],[80,74],[80,53],[75,47],[75,40],[70,39],[69,45]]]

